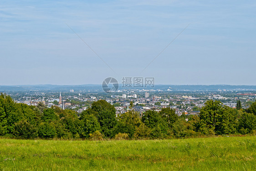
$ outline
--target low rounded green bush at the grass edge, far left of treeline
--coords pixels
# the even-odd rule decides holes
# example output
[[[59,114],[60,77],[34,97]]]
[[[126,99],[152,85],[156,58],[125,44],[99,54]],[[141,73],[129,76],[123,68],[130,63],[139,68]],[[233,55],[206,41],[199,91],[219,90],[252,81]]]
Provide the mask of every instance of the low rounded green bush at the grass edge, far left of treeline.
[[[13,134],[17,138],[30,139],[36,138],[36,131],[36,128],[32,126],[29,122],[22,120],[18,123],[15,123]]]

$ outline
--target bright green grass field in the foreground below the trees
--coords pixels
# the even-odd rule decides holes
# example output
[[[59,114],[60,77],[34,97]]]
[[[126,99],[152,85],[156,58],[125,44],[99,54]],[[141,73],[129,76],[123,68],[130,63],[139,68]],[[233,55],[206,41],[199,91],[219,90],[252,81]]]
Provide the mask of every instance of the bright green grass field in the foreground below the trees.
[[[256,136],[141,141],[0,139],[3,171],[255,171]]]

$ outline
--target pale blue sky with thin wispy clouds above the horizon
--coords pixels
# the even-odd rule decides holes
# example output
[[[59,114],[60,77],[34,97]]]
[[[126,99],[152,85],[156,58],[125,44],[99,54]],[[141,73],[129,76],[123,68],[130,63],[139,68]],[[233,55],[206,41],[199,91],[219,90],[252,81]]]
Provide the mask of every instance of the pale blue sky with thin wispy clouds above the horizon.
[[[255,0],[1,0],[0,85],[256,85],[255,9]]]

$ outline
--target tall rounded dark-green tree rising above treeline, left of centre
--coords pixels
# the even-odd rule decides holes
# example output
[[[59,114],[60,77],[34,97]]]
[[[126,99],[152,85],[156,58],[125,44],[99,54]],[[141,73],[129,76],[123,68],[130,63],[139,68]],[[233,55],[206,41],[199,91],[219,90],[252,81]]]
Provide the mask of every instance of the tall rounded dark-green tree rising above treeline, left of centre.
[[[94,101],[92,110],[97,112],[97,119],[100,123],[102,132],[107,137],[113,137],[113,128],[117,124],[116,109],[105,100]]]

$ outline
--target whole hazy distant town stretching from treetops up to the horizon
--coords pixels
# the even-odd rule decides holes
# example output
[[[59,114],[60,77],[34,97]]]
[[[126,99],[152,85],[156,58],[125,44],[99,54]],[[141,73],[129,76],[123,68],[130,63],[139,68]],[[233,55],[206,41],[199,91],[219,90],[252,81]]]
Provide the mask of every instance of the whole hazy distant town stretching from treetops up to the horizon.
[[[178,86],[178,85],[177,85]],[[184,85],[185,86],[185,85]],[[15,90],[13,87],[6,91],[15,102],[36,106],[39,102],[44,103],[47,107],[59,106],[62,109],[75,110],[79,113],[91,106],[93,101],[106,100],[116,108],[116,114],[124,113],[128,110],[138,111],[141,116],[143,112],[148,110],[160,111],[162,108],[170,107],[175,109],[178,116],[195,115],[200,112],[200,108],[208,100],[217,100],[224,105],[236,108],[236,102],[241,101],[243,108],[248,108],[251,103],[256,100],[256,90],[254,87],[222,85],[222,87],[206,86],[192,90],[195,85],[186,85],[183,88],[175,88],[175,86],[156,86],[151,90],[144,89],[122,89],[113,94],[107,94],[102,91],[100,86],[77,87],[66,86],[57,91],[57,87],[50,90],[51,85],[41,88],[31,88],[31,86],[23,86],[24,90],[20,90],[20,86]],[[199,85],[202,86],[202,85]],[[3,87],[0,86],[1,89]],[[4,87],[8,89],[8,87]],[[67,88],[70,88],[67,90]],[[216,89],[218,88],[218,89]],[[80,89],[80,90],[79,90]],[[215,90],[214,90],[215,89]],[[3,92],[3,91],[2,91]]]

